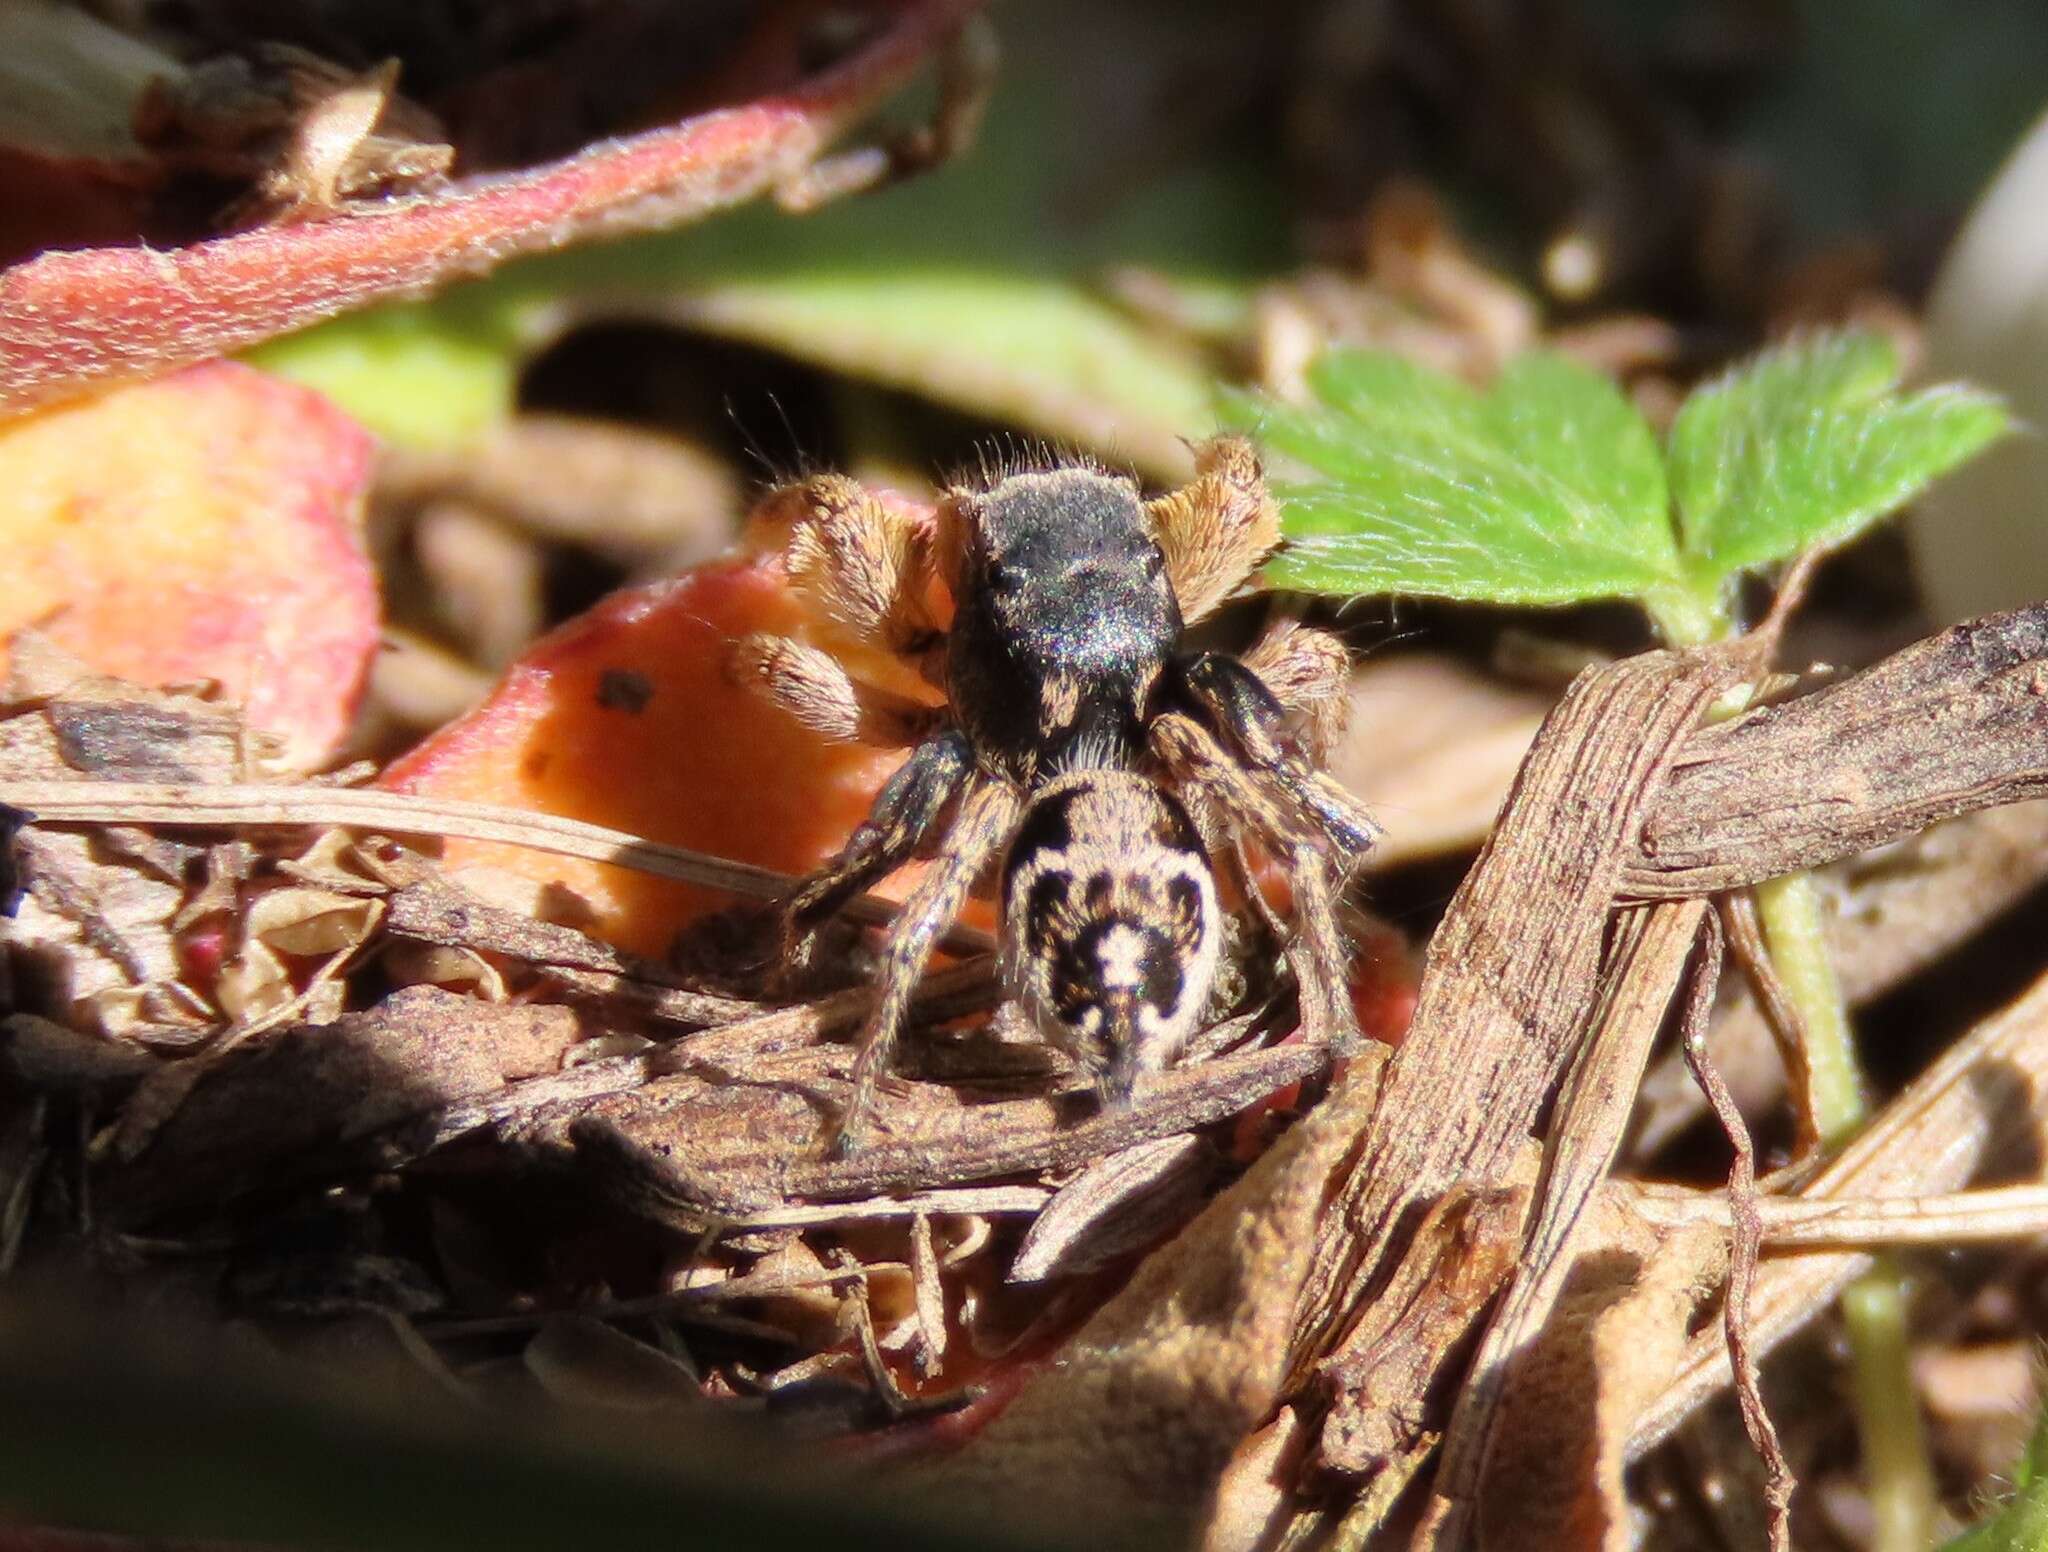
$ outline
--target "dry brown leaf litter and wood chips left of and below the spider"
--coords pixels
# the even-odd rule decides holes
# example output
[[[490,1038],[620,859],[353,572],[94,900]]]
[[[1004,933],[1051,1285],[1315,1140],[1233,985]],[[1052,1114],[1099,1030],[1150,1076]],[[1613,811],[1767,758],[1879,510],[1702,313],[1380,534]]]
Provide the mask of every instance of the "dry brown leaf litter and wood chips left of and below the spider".
[[[25,684],[35,670],[43,684]],[[12,852],[23,901],[8,930],[18,1011],[4,1026],[6,1071],[90,1120],[74,1161],[92,1179],[92,1224],[70,1224],[82,1243],[168,1235],[190,1253],[231,1245],[240,1263],[322,1192],[340,1190],[356,1202],[344,1216],[360,1216],[393,1171],[430,1212],[565,1177],[639,1224],[629,1239],[647,1271],[616,1290],[520,1286],[434,1274],[438,1257],[416,1247],[391,1282],[373,1276],[389,1251],[354,1243],[356,1222],[317,1276],[373,1304],[375,1288],[403,1288],[393,1312],[446,1319],[457,1343],[477,1321],[559,1341],[551,1308],[659,1317],[709,1341],[692,1362],[711,1390],[795,1394],[829,1376],[909,1415],[934,1394],[958,1403],[991,1362],[979,1349],[1016,1341],[1006,1323],[1063,1302],[1020,1298],[1006,1280],[1071,1290],[1128,1265],[1229,1167],[1229,1136],[1219,1151],[1198,1132],[1229,1132],[1321,1067],[1303,1046],[1264,1046],[1286,1026],[1253,1011],[1223,1030],[1233,1054],[1087,1120],[1036,1040],[946,1030],[995,1001],[969,942],[920,993],[932,1040],[889,1095],[887,1140],[827,1161],[819,1145],[848,1067],[829,1040],[866,1014],[864,981],[793,1005],[735,997],[496,905],[422,850],[322,821],[324,803],[356,817],[348,805],[365,794],[348,786],[252,788],[252,743],[205,694],[123,686],[31,647],[8,704],[6,801],[41,807]],[[90,739],[72,735],[88,723]],[[209,788],[266,792],[270,807],[207,823]],[[53,823],[63,794],[160,794],[178,819]],[[399,819],[399,803],[377,817]],[[182,823],[195,817],[197,829]],[[545,837],[518,821],[502,823]],[[53,1210],[31,1185],[16,1218],[37,1200]],[[508,1257],[504,1233],[471,1233],[463,1253],[481,1239]],[[811,1271],[791,1271],[793,1257]],[[471,1296],[492,1288],[494,1308],[457,1317],[455,1282]],[[420,1290],[436,1292],[420,1304]],[[829,1321],[807,1308],[819,1294]],[[793,1370],[791,1353],[807,1349],[821,1368]],[[549,1388],[573,1384],[559,1374],[567,1362],[549,1360]]]

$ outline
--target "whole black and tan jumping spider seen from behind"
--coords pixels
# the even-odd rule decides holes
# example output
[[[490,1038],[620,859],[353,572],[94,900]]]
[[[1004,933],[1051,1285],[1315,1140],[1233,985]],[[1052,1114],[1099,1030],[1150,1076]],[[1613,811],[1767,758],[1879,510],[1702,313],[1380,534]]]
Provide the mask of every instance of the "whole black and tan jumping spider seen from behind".
[[[1292,624],[1243,657],[1182,649],[1186,624],[1280,543],[1247,442],[1204,444],[1194,481],[1153,502],[1071,463],[948,489],[930,524],[836,475],[782,500],[797,516],[793,586],[946,694],[942,706],[893,694],[786,637],[733,647],[741,682],[805,725],[911,747],[788,901],[791,960],[854,895],[936,852],[889,932],[842,1143],[866,1122],[934,944],[997,856],[1006,985],[1104,1102],[1128,1102],[1196,1034],[1221,942],[1210,856],[1264,907],[1247,839],[1292,885],[1286,952],[1307,1036],[1356,1042],[1335,899],[1376,827],[1319,770],[1350,659]],[[934,581],[952,598],[944,627]]]

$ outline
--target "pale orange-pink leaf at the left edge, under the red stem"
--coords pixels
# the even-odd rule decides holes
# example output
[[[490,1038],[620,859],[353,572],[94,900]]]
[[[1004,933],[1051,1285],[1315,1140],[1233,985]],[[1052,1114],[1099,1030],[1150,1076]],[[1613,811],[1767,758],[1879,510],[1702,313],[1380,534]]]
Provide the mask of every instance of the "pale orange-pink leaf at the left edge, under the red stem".
[[[0,426],[0,672],[35,624],[102,674],[219,680],[317,764],[377,651],[369,473],[360,426],[233,362]]]

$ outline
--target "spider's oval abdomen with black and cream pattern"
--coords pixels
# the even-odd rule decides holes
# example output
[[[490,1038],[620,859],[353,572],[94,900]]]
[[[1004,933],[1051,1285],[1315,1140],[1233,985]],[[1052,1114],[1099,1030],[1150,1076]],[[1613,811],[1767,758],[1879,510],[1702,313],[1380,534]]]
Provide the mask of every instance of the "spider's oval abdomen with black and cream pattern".
[[[1157,782],[1077,770],[1038,794],[1004,866],[1004,973],[1106,1100],[1182,1052],[1219,950],[1202,837]]]

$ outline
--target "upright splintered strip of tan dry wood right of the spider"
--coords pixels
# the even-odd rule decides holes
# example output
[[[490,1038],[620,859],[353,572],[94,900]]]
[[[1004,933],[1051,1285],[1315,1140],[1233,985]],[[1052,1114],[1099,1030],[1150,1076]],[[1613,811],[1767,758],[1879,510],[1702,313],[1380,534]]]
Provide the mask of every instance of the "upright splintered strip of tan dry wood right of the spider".
[[[1544,723],[1430,942],[1415,1020],[1317,1224],[1294,1368],[1300,1382],[1315,1368],[1341,1376],[1333,1415],[1376,1390],[1348,1360],[1405,1314],[1372,1294],[1413,1247],[1419,1212],[1452,1185],[1509,1181],[1593,1016],[1642,813],[1679,741],[1735,678],[1733,657],[1647,653],[1581,674]],[[1473,1304],[1432,1323],[1438,1360],[1477,1314]]]

